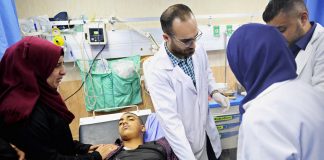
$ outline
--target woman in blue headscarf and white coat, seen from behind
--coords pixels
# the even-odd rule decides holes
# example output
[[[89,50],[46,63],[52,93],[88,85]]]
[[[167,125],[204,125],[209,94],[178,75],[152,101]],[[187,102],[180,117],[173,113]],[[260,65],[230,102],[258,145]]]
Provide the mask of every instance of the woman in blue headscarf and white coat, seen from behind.
[[[323,159],[324,95],[295,79],[296,63],[279,31],[243,25],[229,40],[227,56],[247,91],[237,158]]]

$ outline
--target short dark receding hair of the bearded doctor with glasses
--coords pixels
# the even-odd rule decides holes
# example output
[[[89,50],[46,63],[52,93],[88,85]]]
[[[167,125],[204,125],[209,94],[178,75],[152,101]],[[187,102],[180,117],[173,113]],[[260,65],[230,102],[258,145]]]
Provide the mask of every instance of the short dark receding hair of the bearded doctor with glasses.
[[[176,18],[180,18],[181,21],[185,21],[191,16],[194,16],[191,9],[184,4],[175,4],[168,7],[160,17],[163,32],[169,35],[173,34],[173,20]]]

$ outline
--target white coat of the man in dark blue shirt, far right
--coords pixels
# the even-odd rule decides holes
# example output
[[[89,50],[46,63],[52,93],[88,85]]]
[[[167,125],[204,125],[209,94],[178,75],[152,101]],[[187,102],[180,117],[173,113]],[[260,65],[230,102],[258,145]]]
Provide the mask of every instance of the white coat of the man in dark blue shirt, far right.
[[[320,24],[295,60],[298,78],[324,92],[324,28]]]

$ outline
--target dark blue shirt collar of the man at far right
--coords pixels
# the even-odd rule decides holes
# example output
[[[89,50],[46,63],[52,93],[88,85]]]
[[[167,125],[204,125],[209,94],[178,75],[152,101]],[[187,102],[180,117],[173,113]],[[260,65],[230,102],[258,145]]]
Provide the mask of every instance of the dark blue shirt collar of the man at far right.
[[[296,57],[299,51],[305,50],[307,47],[308,42],[312,39],[313,33],[316,28],[315,22],[310,22],[312,25],[312,28],[302,37],[300,38],[296,43],[292,44],[290,46],[290,50],[293,52],[294,56]]]

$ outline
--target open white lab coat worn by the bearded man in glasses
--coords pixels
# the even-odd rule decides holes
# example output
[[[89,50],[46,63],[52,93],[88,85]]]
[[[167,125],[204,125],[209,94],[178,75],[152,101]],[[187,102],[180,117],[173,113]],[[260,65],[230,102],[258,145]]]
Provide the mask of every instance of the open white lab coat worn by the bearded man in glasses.
[[[165,137],[177,157],[206,158],[206,133],[219,157],[220,136],[208,108],[208,95],[216,84],[206,51],[197,46],[192,59],[197,89],[179,66],[173,66],[164,45],[145,64],[146,84]]]

